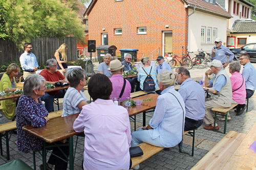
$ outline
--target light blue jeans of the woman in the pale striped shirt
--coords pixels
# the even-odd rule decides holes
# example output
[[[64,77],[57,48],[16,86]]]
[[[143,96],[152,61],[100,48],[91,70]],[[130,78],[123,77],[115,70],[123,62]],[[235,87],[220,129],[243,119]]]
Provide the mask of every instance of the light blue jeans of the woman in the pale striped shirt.
[[[149,130],[142,130],[141,128],[138,131],[132,133],[132,147],[136,147],[142,142],[146,142],[157,147],[163,147],[160,142],[160,136],[155,139],[152,139],[150,136]]]

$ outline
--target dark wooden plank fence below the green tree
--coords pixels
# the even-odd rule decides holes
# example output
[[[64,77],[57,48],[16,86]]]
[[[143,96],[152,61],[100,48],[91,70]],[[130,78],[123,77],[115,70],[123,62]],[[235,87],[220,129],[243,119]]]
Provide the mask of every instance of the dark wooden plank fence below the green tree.
[[[31,41],[38,64],[45,64],[46,60],[54,58],[54,53],[62,43],[68,45],[67,57],[68,61],[77,60],[77,42],[74,37],[47,38],[41,37]],[[24,49],[18,49],[17,46],[9,40],[0,39],[0,65],[4,65],[10,61],[19,61],[19,56],[24,53]]]

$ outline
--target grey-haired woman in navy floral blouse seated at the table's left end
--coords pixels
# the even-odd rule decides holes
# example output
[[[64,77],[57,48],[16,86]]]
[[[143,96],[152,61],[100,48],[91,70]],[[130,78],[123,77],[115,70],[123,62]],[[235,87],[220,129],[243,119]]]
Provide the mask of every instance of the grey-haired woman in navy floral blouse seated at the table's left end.
[[[41,102],[40,96],[45,94],[46,80],[44,77],[33,74],[29,75],[24,83],[24,94],[20,96],[17,106],[17,147],[18,150],[24,153],[39,150],[42,148],[42,140],[34,135],[24,131],[22,127],[31,125],[35,128],[41,128],[49,121],[48,111],[45,105]],[[68,156],[69,147],[60,147]],[[66,159],[58,148],[53,148],[53,154]],[[67,169],[68,163],[51,155],[46,169],[52,169],[55,164],[55,169]],[[42,169],[42,164],[40,169]]]

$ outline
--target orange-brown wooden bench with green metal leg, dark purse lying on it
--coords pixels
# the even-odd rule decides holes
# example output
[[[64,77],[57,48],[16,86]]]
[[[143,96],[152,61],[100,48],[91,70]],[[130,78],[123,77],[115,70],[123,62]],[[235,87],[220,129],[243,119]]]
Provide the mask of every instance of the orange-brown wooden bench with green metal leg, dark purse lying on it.
[[[188,135],[189,133],[192,133],[191,131],[184,131],[183,135]],[[190,135],[189,135],[190,136]],[[190,156],[194,155],[194,143],[195,143],[195,130],[194,130],[194,137],[193,137],[193,148],[192,148],[192,154]],[[151,156],[157,154],[158,152],[162,151],[164,148],[162,147],[156,147],[154,145],[148,144],[148,143],[140,143],[138,145],[141,150],[143,151],[143,155],[142,156],[137,156],[137,157],[133,157],[132,158],[132,168],[138,164],[140,164],[141,162],[143,162],[144,160],[150,158]],[[185,152],[184,152],[185,153]],[[188,153],[186,153],[188,154]]]

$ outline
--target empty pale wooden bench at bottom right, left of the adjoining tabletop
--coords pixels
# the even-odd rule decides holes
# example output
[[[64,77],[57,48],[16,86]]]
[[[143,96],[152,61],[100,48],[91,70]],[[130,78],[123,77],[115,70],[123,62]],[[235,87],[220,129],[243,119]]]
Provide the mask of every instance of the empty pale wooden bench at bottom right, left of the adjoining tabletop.
[[[191,169],[222,169],[237,150],[245,133],[230,131]],[[227,168],[228,169],[228,168]],[[232,168],[230,168],[232,169]]]

